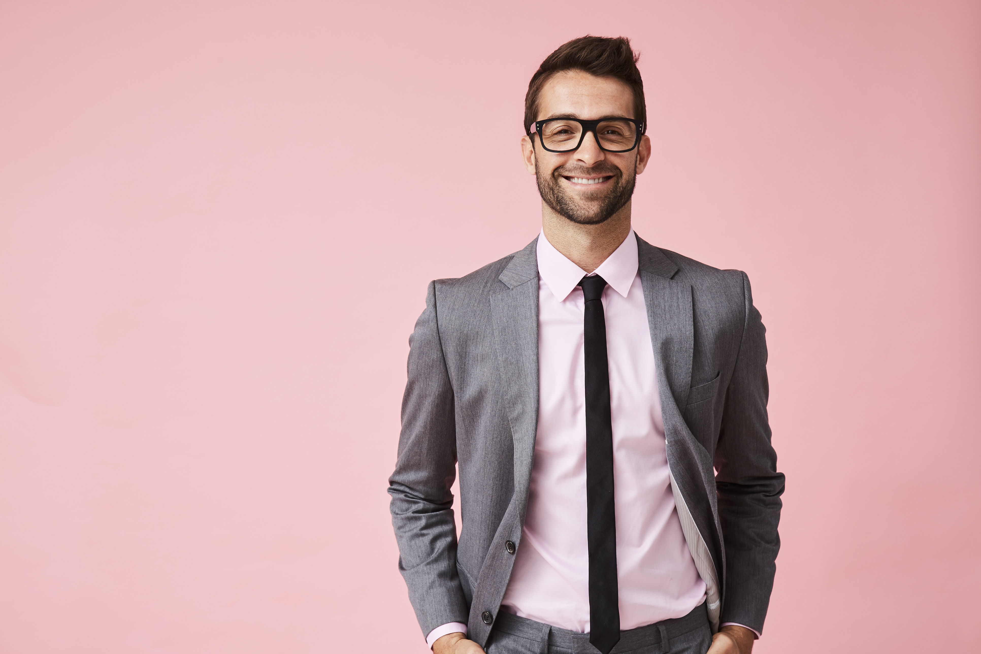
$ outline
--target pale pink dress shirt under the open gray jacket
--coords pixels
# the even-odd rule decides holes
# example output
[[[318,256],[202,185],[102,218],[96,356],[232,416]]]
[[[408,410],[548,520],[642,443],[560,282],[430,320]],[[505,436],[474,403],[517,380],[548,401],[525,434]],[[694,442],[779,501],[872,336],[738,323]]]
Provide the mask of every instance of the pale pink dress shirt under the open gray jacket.
[[[586,273],[539,236],[539,425],[528,513],[501,608],[590,630],[586,521]],[[603,291],[613,427],[621,629],[681,618],[705,599],[668,475],[664,425],[633,230],[594,275]],[[467,632],[450,623],[429,633]]]

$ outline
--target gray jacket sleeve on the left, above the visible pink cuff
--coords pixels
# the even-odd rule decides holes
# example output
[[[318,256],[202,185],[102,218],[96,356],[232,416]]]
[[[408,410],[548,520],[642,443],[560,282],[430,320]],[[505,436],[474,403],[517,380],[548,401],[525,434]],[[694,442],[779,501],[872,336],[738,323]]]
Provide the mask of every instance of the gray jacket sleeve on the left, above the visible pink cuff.
[[[425,637],[469,610],[456,572],[450,486],[456,475],[453,389],[439,339],[436,282],[409,338],[408,382],[395,471],[388,479],[398,568]]]

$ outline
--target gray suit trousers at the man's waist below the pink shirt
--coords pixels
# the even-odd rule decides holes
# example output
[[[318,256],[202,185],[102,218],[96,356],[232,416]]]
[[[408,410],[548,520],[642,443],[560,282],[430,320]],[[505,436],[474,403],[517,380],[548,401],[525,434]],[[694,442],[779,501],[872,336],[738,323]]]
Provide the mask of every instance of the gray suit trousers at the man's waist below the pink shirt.
[[[610,654],[705,654],[712,644],[705,602],[684,618],[620,632]],[[596,654],[589,633],[558,629],[501,611],[486,648],[488,654]]]

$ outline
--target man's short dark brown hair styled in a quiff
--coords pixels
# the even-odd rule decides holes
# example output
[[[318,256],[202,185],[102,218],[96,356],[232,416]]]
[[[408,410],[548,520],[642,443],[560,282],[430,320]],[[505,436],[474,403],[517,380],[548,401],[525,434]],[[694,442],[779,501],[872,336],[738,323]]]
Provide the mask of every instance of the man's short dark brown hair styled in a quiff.
[[[634,92],[634,120],[647,130],[647,106],[644,102],[644,80],[637,70],[641,55],[634,54],[630,39],[623,36],[580,36],[563,43],[542,62],[528,82],[525,94],[525,133],[535,133],[539,113],[539,95],[552,75],[563,71],[584,71],[597,77],[613,77],[630,86]]]

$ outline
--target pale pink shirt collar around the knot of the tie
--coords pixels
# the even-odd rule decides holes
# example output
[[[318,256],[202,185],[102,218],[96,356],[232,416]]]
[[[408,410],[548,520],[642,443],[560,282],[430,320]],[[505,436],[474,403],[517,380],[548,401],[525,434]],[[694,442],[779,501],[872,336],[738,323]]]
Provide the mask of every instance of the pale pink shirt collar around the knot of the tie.
[[[536,251],[539,259],[539,275],[542,276],[555,299],[559,302],[565,301],[579,280],[586,275],[586,271],[556,250],[555,246],[545,238],[544,231],[539,234]],[[634,283],[634,277],[637,277],[638,261],[637,237],[631,229],[620,243],[620,247],[599,265],[593,275],[602,277],[613,287],[613,290],[627,297],[627,292]]]

